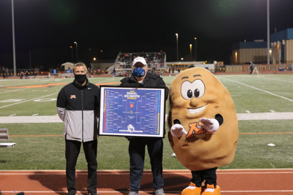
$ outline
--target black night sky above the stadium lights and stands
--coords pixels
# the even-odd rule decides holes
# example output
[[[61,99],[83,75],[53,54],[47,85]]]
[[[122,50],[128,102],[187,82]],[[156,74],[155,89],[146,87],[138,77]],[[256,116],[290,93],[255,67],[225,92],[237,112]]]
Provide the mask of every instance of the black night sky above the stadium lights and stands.
[[[293,0],[270,0],[270,31],[293,28]],[[231,45],[267,40],[267,0],[14,0],[17,69],[159,52],[230,64]],[[90,50],[92,54],[90,56]],[[103,56],[102,52],[103,50]],[[11,0],[0,0],[0,66],[13,68]]]

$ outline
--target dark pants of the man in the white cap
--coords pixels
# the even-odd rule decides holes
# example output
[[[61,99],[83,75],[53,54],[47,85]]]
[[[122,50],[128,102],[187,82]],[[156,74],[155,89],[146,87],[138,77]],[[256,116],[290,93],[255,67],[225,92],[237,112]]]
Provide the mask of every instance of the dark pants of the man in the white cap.
[[[163,189],[163,139],[133,138],[129,140],[130,156],[130,190],[138,193],[143,177],[146,146],[150,158],[153,186],[155,190]]]

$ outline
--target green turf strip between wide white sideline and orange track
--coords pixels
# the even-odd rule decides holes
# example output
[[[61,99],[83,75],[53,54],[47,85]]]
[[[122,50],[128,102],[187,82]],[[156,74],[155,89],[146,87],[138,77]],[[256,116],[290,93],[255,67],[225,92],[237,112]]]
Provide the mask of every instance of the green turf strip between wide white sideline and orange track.
[[[5,124],[10,135],[63,135],[63,123]],[[293,132],[292,120],[239,121],[239,133]],[[29,131],[28,131],[29,129]],[[0,170],[64,170],[63,137],[10,137],[13,148],[0,148]],[[275,146],[268,146],[269,143]],[[186,169],[164,139],[163,169]],[[293,134],[239,135],[236,154],[230,165],[219,169],[293,168]],[[125,137],[98,137],[98,169],[129,169]],[[150,169],[146,149],[145,169]],[[87,169],[83,149],[76,169]]]

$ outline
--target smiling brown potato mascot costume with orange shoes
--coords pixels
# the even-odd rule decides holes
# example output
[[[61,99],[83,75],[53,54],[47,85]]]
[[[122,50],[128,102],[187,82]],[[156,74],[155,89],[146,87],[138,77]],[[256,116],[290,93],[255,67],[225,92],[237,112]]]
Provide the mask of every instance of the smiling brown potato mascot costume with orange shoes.
[[[232,162],[238,139],[230,93],[208,70],[190,68],[174,78],[169,94],[169,142],[192,174],[182,195],[220,195],[216,170]]]

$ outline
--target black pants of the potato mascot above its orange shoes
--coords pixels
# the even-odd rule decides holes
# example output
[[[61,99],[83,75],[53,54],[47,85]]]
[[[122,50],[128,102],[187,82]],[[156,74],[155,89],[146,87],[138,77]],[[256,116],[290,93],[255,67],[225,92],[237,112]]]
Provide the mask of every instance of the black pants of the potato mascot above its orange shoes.
[[[201,171],[191,171],[192,178],[190,179],[192,183],[195,184],[196,187],[201,187],[202,182],[205,181],[205,185],[207,187],[207,184],[214,185],[216,187],[217,185],[217,175],[216,170],[218,167],[212,168],[212,169],[206,169]]]

